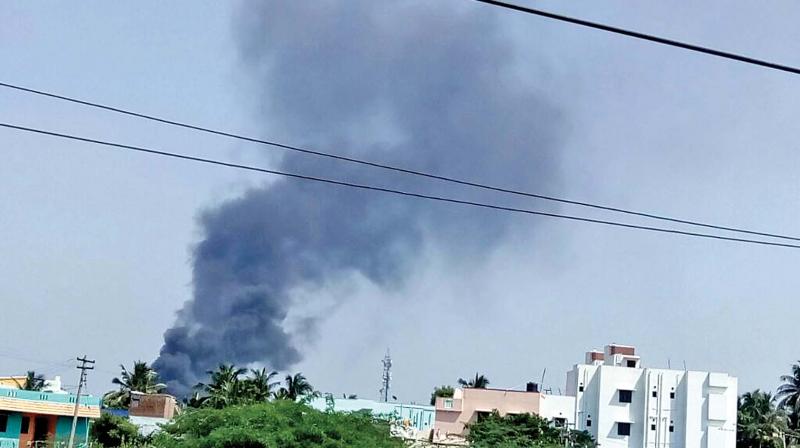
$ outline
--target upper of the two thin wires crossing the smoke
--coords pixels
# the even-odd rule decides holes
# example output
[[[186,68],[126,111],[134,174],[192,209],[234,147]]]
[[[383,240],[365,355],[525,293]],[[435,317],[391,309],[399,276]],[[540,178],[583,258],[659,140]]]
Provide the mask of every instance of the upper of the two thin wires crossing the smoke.
[[[631,216],[640,216],[640,217],[644,217],[644,218],[656,219],[656,220],[667,221],[667,222],[674,222],[674,223],[678,223],[678,224],[686,224],[686,225],[690,225],[690,226],[698,226],[698,227],[705,227],[705,228],[715,229],[715,230],[725,230],[725,231],[728,231],[728,232],[743,233],[743,234],[748,234],[748,235],[766,236],[766,237],[770,237],[770,238],[780,238],[780,239],[785,239],[785,240],[800,241],[800,237],[787,236],[787,235],[781,235],[781,234],[770,233],[770,232],[760,232],[760,231],[748,230],[748,229],[743,229],[743,228],[738,228],[738,227],[722,226],[722,225],[704,223],[704,222],[688,220],[688,219],[673,218],[673,217],[660,215],[660,214],[655,214],[655,213],[639,212],[639,211],[623,209],[623,208],[619,208],[619,207],[612,207],[612,206],[607,206],[607,205],[594,204],[594,203],[585,202],[585,201],[576,201],[576,200],[565,199],[565,198],[560,198],[560,197],[556,197],[556,196],[548,196],[548,195],[543,195],[543,194],[538,194],[538,193],[531,193],[531,192],[526,192],[526,191],[521,191],[521,190],[515,190],[515,189],[511,189],[511,188],[487,185],[487,184],[483,184],[483,183],[472,182],[472,181],[468,181],[468,180],[464,180],[464,179],[458,179],[458,178],[454,178],[454,177],[441,176],[441,175],[437,175],[437,174],[427,173],[427,172],[424,172],[424,171],[417,171],[417,170],[412,170],[412,169],[408,169],[408,168],[402,168],[402,167],[398,167],[398,166],[387,165],[387,164],[378,163],[378,162],[372,162],[372,161],[363,160],[363,159],[356,159],[356,158],[353,158],[353,157],[347,157],[347,156],[342,156],[342,155],[338,155],[338,154],[332,154],[332,153],[328,153],[328,152],[316,151],[316,150],[312,150],[312,149],[308,149],[308,148],[302,148],[300,146],[287,145],[287,144],[278,143],[278,142],[274,142],[274,141],[270,141],[270,140],[263,140],[263,139],[258,139],[258,138],[255,138],[255,137],[248,137],[248,136],[244,136],[244,135],[240,135],[240,134],[233,134],[233,133],[226,132],[226,131],[221,131],[221,130],[218,130],[218,129],[212,129],[212,128],[207,128],[207,127],[197,126],[197,125],[193,125],[193,124],[189,124],[189,123],[185,123],[185,122],[180,122],[180,121],[168,120],[166,118],[156,117],[156,116],[153,116],[153,115],[147,115],[147,114],[143,114],[143,113],[140,113],[140,112],[134,112],[134,111],[129,110],[129,109],[123,109],[123,108],[116,107],[116,106],[108,106],[108,105],[105,105],[105,104],[95,103],[95,102],[92,102],[92,101],[82,100],[82,99],[78,99],[78,98],[74,98],[74,97],[68,97],[68,96],[59,95],[59,94],[52,93],[52,92],[46,92],[46,91],[43,91],[43,90],[31,89],[31,88],[28,88],[28,87],[23,87],[23,86],[14,85],[14,84],[8,84],[8,83],[4,83],[4,82],[0,82],[0,87],[6,87],[6,88],[9,88],[9,89],[18,90],[18,91],[21,91],[21,92],[32,93],[32,94],[35,94],[35,95],[41,95],[41,96],[45,96],[45,97],[49,97],[49,98],[54,98],[54,99],[58,99],[58,100],[68,101],[68,102],[75,103],[75,104],[80,104],[80,105],[83,105],[83,106],[89,106],[89,107],[94,107],[94,108],[98,108],[98,109],[103,109],[103,110],[110,111],[110,112],[120,113],[120,114],[124,114],[124,115],[128,115],[128,116],[132,116],[132,117],[137,117],[137,118],[141,118],[141,119],[145,119],[145,120],[155,121],[155,122],[162,123],[162,124],[167,124],[167,125],[170,125],[170,126],[177,126],[177,127],[181,127],[181,128],[185,128],[185,129],[191,129],[191,130],[194,130],[194,131],[205,132],[205,133],[208,133],[208,134],[218,135],[218,136],[222,136],[222,137],[228,137],[228,138],[242,140],[242,141],[246,141],[246,142],[250,142],[250,143],[258,143],[258,144],[261,144],[261,145],[271,146],[271,147],[280,148],[280,149],[284,149],[284,150],[288,150],[288,151],[299,152],[299,153],[303,153],[303,154],[307,154],[307,155],[325,157],[325,158],[338,160],[338,161],[341,161],[341,162],[354,163],[354,164],[369,166],[369,167],[373,167],[373,168],[380,168],[380,169],[385,169],[385,170],[389,170],[389,171],[395,171],[395,172],[400,172],[400,173],[404,173],[404,174],[410,174],[410,175],[413,175],[413,176],[419,176],[419,177],[424,177],[424,178],[428,178],[428,179],[435,179],[435,180],[439,180],[439,181],[443,181],[443,182],[450,182],[450,183],[459,184],[459,185],[466,185],[466,186],[469,186],[469,187],[481,188],[481,189],[489,190],[489,191],[496,191],[496,192],[500,192],[500,193],[513,194],[513,195],[517,195],[517,196],[524,196],[524,197],[542,199],[542,200],[546,200],[546,201],[559,202],[559,203],[563,203],[563,204],[577,205],[577,206],[593,208],[593,209],[597,209],[597,210],[604,210],[604,211],[610,211],[610,212],[615,212],[615,213],[622,213],[622,214],[627,214],[627,215],[631,215]]]

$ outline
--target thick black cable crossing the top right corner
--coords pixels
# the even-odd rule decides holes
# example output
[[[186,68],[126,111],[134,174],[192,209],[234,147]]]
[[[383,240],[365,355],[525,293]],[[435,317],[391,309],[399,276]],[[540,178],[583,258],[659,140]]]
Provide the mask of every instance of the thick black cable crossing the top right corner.
[[[690,44],[686,42],[681,42],[677,40],[667,39],[664,37],[654,36],[652,34],[645,34],[640,33],[638,31],[631,31],[626,30],[623,28],[617,28],[610,25],[605,25],[602,23],[597,22],[590,22],[588,20],[577,19],[574,17],[563,16],[560,14],[555,14],[552,12],[542,11],[541,9],[534,9],[529,8],[526,6],[516,5],[513,3],[497,1],[497,0],[474,0],[480,3],[486,3],[488,5],[498,6],[500,8],[511,9],[518,12],[523,12],[526,14],[533,14],[540,17],[546,17],[548,19],[559,20],[561,22],[572,23],[574,25],[585,26],[588,28],[594,28],[602,31],[606,31],[609,33],[621,34],[623,36],[633,37],[634,39],[641,39],[650,42],[655,42],[662,45],[669,45],[671,47],[683,48],[684,50],[690,50],[698,53],[704,53],[711,56],[717,56],[720,58],[731,59],[734,61],[744,62],[746,64],[758,65],[760,67],[770,68],[773,70],[780,70],[783,72],[793,73],[795,75],[800,75],[800,68],[792,67],[789,65],[777,64],[775,62],[765,61],[763,59],[756,59],[751,58],[749,56],[743,56],[736,53],[729,53],[727,51],[715,50],[713,48],[703,47],[700,45]]]

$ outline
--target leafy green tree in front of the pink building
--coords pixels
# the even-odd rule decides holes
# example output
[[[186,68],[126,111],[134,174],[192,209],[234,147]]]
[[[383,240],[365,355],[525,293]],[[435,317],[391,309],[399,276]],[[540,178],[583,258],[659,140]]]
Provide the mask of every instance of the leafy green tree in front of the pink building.
[[[494,411],[468,425],[468,429],[467,440],[472,448],[555,447],[563,445],[565,436],[570,437],[575,447],[594,447],[588,432],[556,428],[536,414],[500,416]]]

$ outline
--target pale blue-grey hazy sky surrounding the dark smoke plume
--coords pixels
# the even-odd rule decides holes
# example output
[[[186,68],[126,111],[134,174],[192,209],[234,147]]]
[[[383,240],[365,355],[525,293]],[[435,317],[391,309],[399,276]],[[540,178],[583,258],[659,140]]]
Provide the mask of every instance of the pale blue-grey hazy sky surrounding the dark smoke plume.
[[[513,50],[506,75],[558,115],[559,156],[552,182],[539,185],[543,193],[800,234],[797,76],[441,1],[497,20]],[[795,2],[531,4],[800,65]],[[427,2],[408,5],[425,17]],[[302,130],[276,125],[281,117],[270,117],[269,98],[254,87],[262,78],[241,58],[242,17],[251,11],[269,14],[252,3],[4,2],[0,80],[291,141]],[[431,30],[431,39],[437,31],[446,28]],[[297,24],[279,32],[289,45],[309,31]],[[252,145],[3,89],[0,121],[274,163]],[[87,354],[97,359],[89,381],[98,394],[111,387],[118,364],[155,359],[174,313],[191,298],[198,214],[273,180],[9,130],[0,139],[0,309],[8,335],[0,373],[36,369],[74,385],[71,360]],[[394,290],[354,276],[298,292],[334,305],[315,334],[297,336],[305,359],[293,370],[324,391],[376,397],[390,347],[394,394],[422,401],[434,385],[476,370],[513,387],[547,368],[545,384],[557,390],[585,350],[611,341],[636,345],[649,366],[685,361],[729,372],[742,390],[774,389],[800,358],[793,332],[800,252],[511,220],[513,231],[473,260],[454,263],[448,245],[429,241]]]

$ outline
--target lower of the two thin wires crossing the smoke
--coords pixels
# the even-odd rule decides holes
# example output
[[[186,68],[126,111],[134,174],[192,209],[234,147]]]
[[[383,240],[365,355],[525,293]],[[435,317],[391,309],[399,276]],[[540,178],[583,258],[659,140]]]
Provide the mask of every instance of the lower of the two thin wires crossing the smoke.
[[[221,161],[221,160],[214,160],[214,159],[207,159],[207,158],[203,158],[203,157],[189,156],[189,155],[186,155],[186,154],[178,154],[178,153],[173,153],[173,152],[161,151],[161,150],[152,149],[152,148],[145,148],[145,147],[142,147],[142,146],[133,146],[133,145],[126,145],[126,144],[122,144],[122,143],[108,142],[108,141],[103,141],[103,140],[87,138],[87,137],[80,137],[80,136],[77,136],[77,135],[70,135],[70,134],[64,134],[64,133],[60,133],[60,132],[47,131],[47,130],[43,130],[43,129],[29,128],[29,127],[24,127],[24,126],[17,126],[17,125],[13,125],[13,124],[9,124],[9,123],[0,122],[0,127],[4,127],[4,128],[7,128],[7,129],[14,129],[14,130],[18,130],[18,131],[29,132],[29,133],[41,134],[41,135],[49,135],[49,136],[52,136],[52,137],[58,137],[58,138],[62,138],[62,139],[69,139],[69,140],[76,140],[76,141],[81,141],[81,142],[86,142],[86,143],[93,143],[93,144],[97,144],[97,145],[108,146],[108,147],[118,148],[118,149],[122,149],[122,150],[136,151],[136,152],[147,153],[147,154],[151,154],[151,155],[157,155],[157,156],[163,156],[163,157],[171,157],[171,158],[175,158],[175,159],[189,160],[189,161],[199,162],[199,163],[206,163],[206,164],[210,164],[210,165],[220,165],[220,166],[226,166],[226,167],[229,167],[229,168],[237,168],[237,169],[246,170],[246,171],[254,171],[254,172],[259,172],[259,173],[274,174],[274,175],[285,176],[285,177],[290,177],[290,178],[294,178],[294,179],[309,180],[309,181],[321,182],[321,183],[326,183],[326,184],[331,184],[331,185],[338,185],[338,186],[343,186],[343,187],[357,188],[357,189],[367,190],[367,191],[379,191],[379,192],[383,192],[383,193],[390,193],[390,194],[395,194],[395,195],[400,195],[400,196],[414,197],[414,198],[418,198],[418,199],[427,199],[427,200],[431,200],[431,201],[468,205],[468,206],[472,206],[472,207],[479,207],[479,208],[485,208],[485,209],[490,209],[490,210],[501,210],[501,211],[507,211],[507,212],[513,212],[513,213],[523,213],[523,214],[527,214],[527,215],[546,216],[546,217],[550,217],[550,218],[567,219],[567,220],[571,220],[571,221],[581,221],[581,222],[588,222],[588,223],[593,223],[593,224],[603,224],[603,225],[614,226],[614,227],[623,227],[623,228],[627,228],[627,229],[647,230],[647,231],[651,231],[651,232],[671,233],[671,234],[676,234],[676,235],[692,236],[692,237],[698,237],[698,238],[711,238],[711,239],[717,239],[717,240],[723,240],[723,241],[734,241],[734,242],[739,242],[739,243],[760,244],[760,245],[765,245],[765,246],[777,246],[777,247],[787,247],[787,248],[792,248],[792,249],[800,249],[800,245],[795,245],[795,244],[777,243],[777,242],[772,242],[772,241],[753,240],[753,239],[747,239],[747,238],[736,238],[736,237],[715,235],[715,234],[710,234],[710,233],[687,232],[687,231],[684,231],[684,230],[667,229],[667,228],[662,228],[662,227],[642,226],[642,225],[628,224],[628,223],[617,222],[617,221],[606,221],[606,220],[601,220],[601,219],[586,218],[586,217],[582,217],[582,216],[564,215],[564,214],[559,214],[559,213],[549,213],[549,212],[542,212],[542,211],[538,211],[538,210],[530,210],[530,209],[524,209],[524,208],[506,207],[506,206],[502,206],[502,205],[489,204],[489,203],[485,203],[485,202],[475,202],[475,201],[468,201],[468,200],[463,200],[463,199],[449,198],[449,197],[445,197],[445,196],[434,196],[434,195],[423,194],[423,193],[414,193],[414,192],[409,192],[409,191],[396,190],[396,189],[392,189],[392,188],[376,187],[376,186],[367,185],[367,184],[359,184],[359,183],[334,180],[334,179],[329,179],[329,178],[324,178],[324,177],[310,176],[310,175],[306,175],[306,174],[298,174],[298,173],[290,173],[290,172],[287,172],[287,171],[271,170],[271,169],[266,169],[266,168],[255,167],[255,166],[252,166],[252,165],[242,165],[242,164],[238,164],[238,163],[224,162],[224,161]]]

